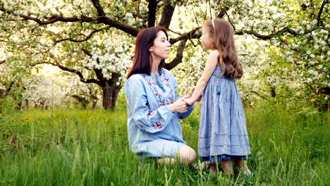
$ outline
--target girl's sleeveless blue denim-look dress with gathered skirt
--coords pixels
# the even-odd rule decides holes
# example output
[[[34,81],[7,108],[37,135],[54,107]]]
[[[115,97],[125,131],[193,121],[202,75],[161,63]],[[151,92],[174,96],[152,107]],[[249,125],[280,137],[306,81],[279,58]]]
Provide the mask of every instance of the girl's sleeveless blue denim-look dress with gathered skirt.
[[[247,156],[250,144],[236,82],[221,76],[221,68],[216,66],[203,92],[198,155],[218,156],[219,161],[224,154]]]

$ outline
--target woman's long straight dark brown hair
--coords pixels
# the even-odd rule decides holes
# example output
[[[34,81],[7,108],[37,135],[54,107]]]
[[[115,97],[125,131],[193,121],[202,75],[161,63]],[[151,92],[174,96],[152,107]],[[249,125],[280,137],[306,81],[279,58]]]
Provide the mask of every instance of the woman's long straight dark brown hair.
[[[166,30],[162,27],[148,27],[140,30],[135,40],[133,66],[130,68],[127,78],[130,78],[131,75],[137,73],[145,73],[150,75],[152,68],[152,57],[149,48],[154,45],[154,39],[156,39],[159,31],[164,32],[166,38],[169,39]],[[161,63],[159,63],[159,73],[161,72],[161,68],[164,67],[164,63],[164,59],[161,60]]]

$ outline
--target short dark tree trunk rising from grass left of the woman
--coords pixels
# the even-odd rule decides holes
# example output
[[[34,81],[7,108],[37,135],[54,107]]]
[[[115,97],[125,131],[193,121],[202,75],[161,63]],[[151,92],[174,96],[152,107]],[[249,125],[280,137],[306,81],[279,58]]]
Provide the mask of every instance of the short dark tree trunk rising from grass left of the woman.
[[[112,85],[111,85],[112,84]],[[104,87],[102,87],[103,91],[103,108],[106,110],[114,110],[116,105],[118,93],[121,87],[114,85],[109,81],[104,83]]]

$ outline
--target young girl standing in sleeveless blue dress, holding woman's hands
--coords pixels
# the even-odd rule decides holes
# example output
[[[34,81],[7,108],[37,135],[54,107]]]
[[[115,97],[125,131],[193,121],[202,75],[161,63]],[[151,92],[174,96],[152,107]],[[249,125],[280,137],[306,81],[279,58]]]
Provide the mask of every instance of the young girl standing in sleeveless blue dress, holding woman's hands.
[[[208,20],[202,25],[202,46],[211,50],[202,77],[193,95],[184,99],[193,104],[203,93],[198,155],[216,172],[221,162],[224,174],[233,174],[233,161],[246,175],[252,173],[245,160],[250,157],[245,113],[235,79],[243,69],[238,61],[233,27],[226,20]],[[203,92],[204,91],[204,92]]]

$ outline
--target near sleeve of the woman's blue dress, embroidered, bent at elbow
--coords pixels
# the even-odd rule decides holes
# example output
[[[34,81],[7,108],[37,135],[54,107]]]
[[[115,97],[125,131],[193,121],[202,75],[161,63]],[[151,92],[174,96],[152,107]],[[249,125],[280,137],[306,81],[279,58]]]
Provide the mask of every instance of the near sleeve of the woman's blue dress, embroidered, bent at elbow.
[[[168,105],[161,106],[154,111],[149,109],[147,89],[141,79],[128,80],[125,85],[125,93],[128,111],[132,113],[135,125],[138,125],[141,130],[149,133],[160,132],[171,122],[173,113]]]

